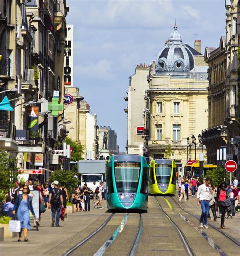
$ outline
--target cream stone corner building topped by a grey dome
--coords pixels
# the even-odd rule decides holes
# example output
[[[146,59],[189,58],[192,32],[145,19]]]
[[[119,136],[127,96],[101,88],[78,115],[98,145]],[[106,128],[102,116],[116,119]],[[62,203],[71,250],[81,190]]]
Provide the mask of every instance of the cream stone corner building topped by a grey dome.
[[[198,49],[200,43],[195,42]],[[151,159],[163,158],[170,145],[178,167],[184,167],[190,157],[187,138],[197,138],[207,126],[208,80],[204,56],[183,43],[177,25],[151,64],[148,82],[144,98],[149,109],[145,115],[149,134],[145,134],[144,154]],[[191,159],[198,159],[202,145],[193,141]]]

